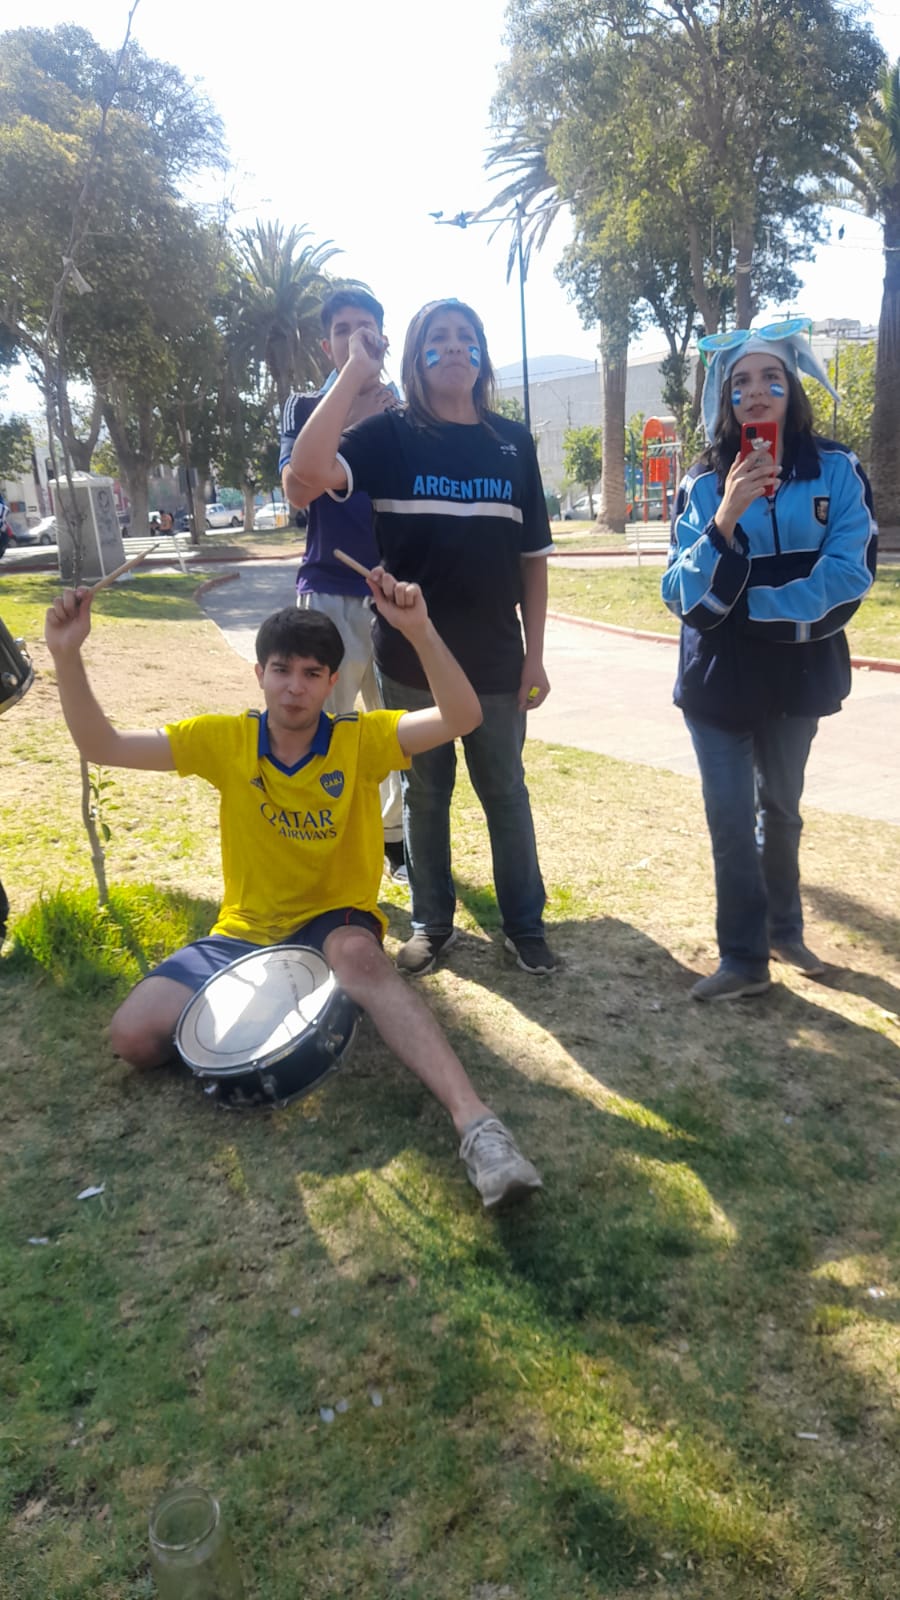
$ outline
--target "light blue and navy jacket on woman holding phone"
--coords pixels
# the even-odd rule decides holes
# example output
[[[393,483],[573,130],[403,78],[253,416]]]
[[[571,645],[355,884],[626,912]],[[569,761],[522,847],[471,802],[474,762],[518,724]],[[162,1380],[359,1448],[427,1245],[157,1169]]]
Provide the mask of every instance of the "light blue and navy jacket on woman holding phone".
[[[676,704],[724,726],[838,710],[850,686],[842,630],[878,550],[860,462],[801,435],[777,493],[748,507],[732,544],[713,522],[721,498],[716,472],[697,464],[676,499],[663,578],[682,621]]]

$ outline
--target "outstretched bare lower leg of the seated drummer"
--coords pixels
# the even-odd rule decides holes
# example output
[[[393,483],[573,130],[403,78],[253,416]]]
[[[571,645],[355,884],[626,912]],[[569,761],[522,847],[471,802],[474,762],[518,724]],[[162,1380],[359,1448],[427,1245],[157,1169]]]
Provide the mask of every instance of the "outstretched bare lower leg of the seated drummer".
[[[384,1043],[450,1114],[456,1133],[476,1117],[490,1115],[450,1040],[375,934],[365,928],[335,928],[325,939],[325,957],[341,989],[368,1011]]]

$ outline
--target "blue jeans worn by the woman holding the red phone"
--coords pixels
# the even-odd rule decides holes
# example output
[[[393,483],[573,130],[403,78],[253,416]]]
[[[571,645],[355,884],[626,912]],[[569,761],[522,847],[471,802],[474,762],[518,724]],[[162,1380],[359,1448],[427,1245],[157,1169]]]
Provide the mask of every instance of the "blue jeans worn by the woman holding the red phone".
[[[754,733],[684,720],[713,840],[719,957],[743,978],[765,978],[769,944],[802,939],[799,805],[818,718],[773,717]]]

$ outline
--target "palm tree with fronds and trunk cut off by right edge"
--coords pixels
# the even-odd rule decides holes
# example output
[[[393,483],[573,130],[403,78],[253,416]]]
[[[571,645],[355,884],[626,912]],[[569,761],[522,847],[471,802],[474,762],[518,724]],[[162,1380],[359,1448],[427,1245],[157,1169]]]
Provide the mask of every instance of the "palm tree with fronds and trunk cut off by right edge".
[[[884,66],[857,126],[855,146],[823,198],[879,218],[884,290],[878,320],[871,486],[884,525],[900,523],[900,61]]]

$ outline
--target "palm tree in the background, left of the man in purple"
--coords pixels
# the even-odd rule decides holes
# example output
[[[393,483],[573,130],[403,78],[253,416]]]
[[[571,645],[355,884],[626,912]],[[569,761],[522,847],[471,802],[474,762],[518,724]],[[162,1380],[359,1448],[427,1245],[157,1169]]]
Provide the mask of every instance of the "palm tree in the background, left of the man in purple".
[[[327,376],[319,310],[333,288],[323,267],[340,248],[330,238],[303,243],[309,232],[291,227],[285,234],[280,222],[256,222],[237,235],[240,342],[250,365],[267,366],[279,408],[291,389]]]

